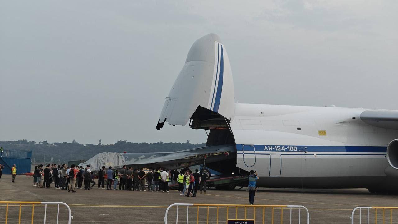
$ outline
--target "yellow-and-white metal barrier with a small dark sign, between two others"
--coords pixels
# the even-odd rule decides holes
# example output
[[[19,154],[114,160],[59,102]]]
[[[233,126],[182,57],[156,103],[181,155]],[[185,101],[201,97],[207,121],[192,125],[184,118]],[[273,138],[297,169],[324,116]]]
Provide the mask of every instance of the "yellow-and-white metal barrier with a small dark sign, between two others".
[[[183,219],[186,223],[281,223],[289,220],[289,224],[292,223],[292,217],[296,217],[293,220],[294,223],[300,224],[301,213],[306,215],[306,224],[310,223],[310,214],[308,209],[301,205],[224,205],[224,204],[179,204],[175,203],[166,209],[164,216],[164,223],[168,223],[168,218],[174,222],[174,215],[169,216],[171,208],[176,208],[175,222],[178,224],[178,219]],[[174,209],[173,209],[174,210]],[[303,210],[303,211],[301,211]],[[276,214],[274,214],[274,212]],[[284,213],[285,211],[285,213]],[[185,214],[186,212],[186,214]],[[256,216],[257,213],[257,216]],[[190,218],[191,217],[191,218]],[[285,218],[285,219],[284,219]],[[304,219],[304,217],[303,217]],[[243,222],[237,222],[237,221]],[[285,223],[287,223],[285,221]]]

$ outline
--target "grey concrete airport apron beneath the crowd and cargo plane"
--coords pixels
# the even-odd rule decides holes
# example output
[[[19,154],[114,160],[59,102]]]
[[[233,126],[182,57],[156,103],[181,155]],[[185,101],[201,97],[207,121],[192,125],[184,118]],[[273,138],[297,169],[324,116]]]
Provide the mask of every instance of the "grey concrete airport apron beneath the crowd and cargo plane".
[[[90,191],[76,189],[77,193],[68,193],[67,191],[54,189],[53,184],[51,189],[36,188],[32,185],[32,177],[17,175],[16,183],[11,183],[11,175],[3,175],[0,182],[0,200],[61,201],[70,206],[74,216],[72,223],[107,224],[164,223],[166,208],[172,203],[248,204],[248,192],[245,188],[241,190],[236,188],[234,191],[210,189],[207,191],[207,195],[197,194],[195,198],[188,198],[179,195],[176,190],[170,190],[170,193],[107,191],[106,189],[97,189],[95,186]],[[398,196],[396,195],[375,195],[369,193],[367,189],[260,188],[256,193],[255,204],[303,205],[310,212],[310,223],[351,223],[349,217],[352,209],[356,206],[398,206],[397,199]],[[10,207],[9,223],[18,221],[17,208],[18,206]],[[60,218],[63,219],[60,219],[59,223],[66,222],[64,211],[63,208],[60,208],[60,213],[62,213]],[[191,210],[191,212],[195,212],[195,210]],[[398,220],[398,211],[396,213],[394,218]],[[42,223],[43,214],[43,206],[36,206],[34,223]],[[49,208],[47,211],[47,223],[55,223],[56,214],[56,207]],[[196,218],[196,212],[193,216]],[[202,216],[205,216],[205,213],[201,213],[200,217],[202,218]],[[379,213],[380,216],[381,213]],[[21,223],[31,222],[30,205],[24,206],[21,220]],[[1,205],[0,222],[4,223],[4,221],[5,206]],[[182,221],[181,223],[185,223]],[[194,221],[192,223],[196,223]],[[266,223],[269,222],[270,220],[266,221]],[[283,222],[289,223],[289,219],[284,218]],[[175,223],[175,221],[169,223]],[[209,223],[213,222],[210,221]],[[219,223],[224,223],[224,221]]]

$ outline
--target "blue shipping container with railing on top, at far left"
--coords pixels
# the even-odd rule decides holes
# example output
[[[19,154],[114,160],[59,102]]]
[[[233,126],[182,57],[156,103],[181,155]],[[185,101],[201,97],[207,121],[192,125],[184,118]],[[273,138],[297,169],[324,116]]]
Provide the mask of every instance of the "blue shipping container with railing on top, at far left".
[[[3,174],[11,174],[14,164],[17,167],[17,174],[29,173],[31,171],[32,151],[4,150],[0,157],[0,164],[4,166]]]

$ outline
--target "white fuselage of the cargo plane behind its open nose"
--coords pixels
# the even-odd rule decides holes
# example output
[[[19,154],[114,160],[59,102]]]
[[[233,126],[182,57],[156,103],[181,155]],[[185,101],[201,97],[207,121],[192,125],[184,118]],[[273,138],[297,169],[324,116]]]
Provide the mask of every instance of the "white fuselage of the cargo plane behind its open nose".
[[[367,125],[363,111],[236,103],[236,166],[257,171],[263,187],[396,186],[386,148],[398,130]]]

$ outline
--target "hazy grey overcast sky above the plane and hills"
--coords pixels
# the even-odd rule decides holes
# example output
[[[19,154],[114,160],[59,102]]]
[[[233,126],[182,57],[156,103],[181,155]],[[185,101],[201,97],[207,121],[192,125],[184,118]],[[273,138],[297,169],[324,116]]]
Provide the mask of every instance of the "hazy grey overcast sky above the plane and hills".
[[[0,140],[205,142],[160,110],[217,33],[239,103],[398,109],[398,1],[0,0]]]

